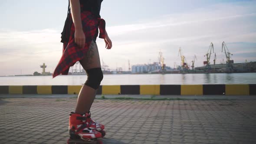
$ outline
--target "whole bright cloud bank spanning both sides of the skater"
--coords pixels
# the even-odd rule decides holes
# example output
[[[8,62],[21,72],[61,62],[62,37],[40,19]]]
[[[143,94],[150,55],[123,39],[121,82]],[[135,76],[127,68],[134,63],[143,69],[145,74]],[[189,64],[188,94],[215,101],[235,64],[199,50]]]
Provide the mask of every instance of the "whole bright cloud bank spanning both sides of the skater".
[[[109,26],[106,29],[113,48],[104,49],[104,41],[98,39],[100,57],[115,69],[116,66],[127,67],[128,59],[131,64],[158,61],[161,49],[166,64],[173,66],[174,62],[180,64],[178,49],[181,47],[188,63],[197,55],[195,66],[201,66],[211,42],[217,53],[217,63],[225,59],[221,52],[221,44],[225,41],[235,62],[255,61],[255,4],[255,1],[215,4],[129,25]],[[26,65],[27,72],[33,73],[30,69],[46,62],[52,72],[61,56],[60,32],[56,29],[24,32],[0,29],[0,38],[0,62],[4,62],[4,69],[22,69],[20,65]],[[0,75],[5,73],[7,71]]]

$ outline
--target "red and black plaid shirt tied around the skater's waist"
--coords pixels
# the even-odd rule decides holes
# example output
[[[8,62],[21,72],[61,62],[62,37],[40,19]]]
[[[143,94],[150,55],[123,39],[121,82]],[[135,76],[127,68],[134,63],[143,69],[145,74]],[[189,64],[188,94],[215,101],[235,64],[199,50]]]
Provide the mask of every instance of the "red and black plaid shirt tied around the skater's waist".
[[[74,23],[72,23],[69,42],[63,43],[62,57],[53,72],[53,78],[60,74],[68,75],[70,66],[75,65],[75,62],[84,58],[95,36],[97,28],[99,29],[98,37],[105,39],[105,20],[96,18],[89,11],[81,13],[81,20],[83,31],[85,33],[85,47],[81,49],[75,44],[75,26]]]

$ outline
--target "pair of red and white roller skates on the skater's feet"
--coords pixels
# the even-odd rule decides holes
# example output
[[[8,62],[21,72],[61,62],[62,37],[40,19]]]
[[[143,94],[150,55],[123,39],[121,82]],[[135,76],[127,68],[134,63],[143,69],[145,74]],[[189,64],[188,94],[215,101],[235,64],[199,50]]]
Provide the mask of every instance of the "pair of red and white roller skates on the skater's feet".
[[[68,144],[75,144],[75,141],[81,139],[86,142],[95,143],[97,142],[97,138],[102,137],[102,133],[93,128],[89,121],[91,121],[91,119],[88,118],[88,114],[80,115],[74,112],[69,114],[70,138]]]

